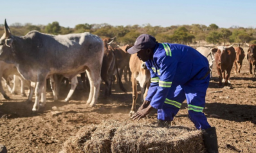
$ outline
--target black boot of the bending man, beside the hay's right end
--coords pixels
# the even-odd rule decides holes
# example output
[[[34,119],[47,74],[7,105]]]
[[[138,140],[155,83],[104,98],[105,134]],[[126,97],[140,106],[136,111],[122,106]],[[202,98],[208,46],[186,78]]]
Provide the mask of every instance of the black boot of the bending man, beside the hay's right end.
[[[205,143],[205,148],[208,153],[219,153],[217,134],[215,127],[210,127],[208,129],[202,130],[203,141]]]

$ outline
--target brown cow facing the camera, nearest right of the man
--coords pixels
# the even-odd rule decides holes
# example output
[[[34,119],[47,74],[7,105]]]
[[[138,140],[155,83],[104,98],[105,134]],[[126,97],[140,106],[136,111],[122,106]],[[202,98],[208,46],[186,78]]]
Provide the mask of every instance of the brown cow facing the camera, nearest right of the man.
[[[215,52],[215,63],[219,74],[219,87],[230,84],[230,72],[235,61],[235,49],[230,46],[218,46]],[[225,74],[226,71],[226,74]],[[223,76],[222,76],[223,73]]]

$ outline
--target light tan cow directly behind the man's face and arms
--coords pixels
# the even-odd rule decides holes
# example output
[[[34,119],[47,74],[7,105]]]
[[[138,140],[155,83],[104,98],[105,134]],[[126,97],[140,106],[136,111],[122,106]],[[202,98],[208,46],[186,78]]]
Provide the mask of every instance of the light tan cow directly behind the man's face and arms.
[[[145,62],[142,62],[142,60],[140,60],[136,54],[131,55],[129,66],[132,72],[131,80],[133,84],[133,105],[131,107],[131,111],[129,115],[133,116],[133,114],[136,111],[136,100],[138,98],[137,82],[139,82],[140,84],[140,89],[141,89],[140,100],[143,102],[143,100],[147,96],[147,91],[149,89],[151,73],[147,69],[147,66],[145,66]],[[145,89],[145,86],[146,86],[146,89]]]

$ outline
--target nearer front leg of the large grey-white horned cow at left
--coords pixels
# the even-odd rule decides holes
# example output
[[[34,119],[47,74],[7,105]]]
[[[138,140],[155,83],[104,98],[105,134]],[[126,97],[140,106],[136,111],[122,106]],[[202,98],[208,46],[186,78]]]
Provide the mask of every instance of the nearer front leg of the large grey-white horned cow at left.
[[[39,98],[42,94],[42,88],[44,87],[44,82],[46,82],[46,76],[38,76],[37,85],[35,85],[35,104],[33,105],[32,111],[39,111]]]

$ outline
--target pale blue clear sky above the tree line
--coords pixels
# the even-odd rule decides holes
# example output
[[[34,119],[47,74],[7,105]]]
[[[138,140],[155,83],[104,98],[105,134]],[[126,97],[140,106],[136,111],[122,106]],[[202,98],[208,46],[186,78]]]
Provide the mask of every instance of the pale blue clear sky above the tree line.
[[[255,0],[0,0],[0,24],[19,22],[74,28],[77,24],[172,26],[214,23],[256,28]]]

